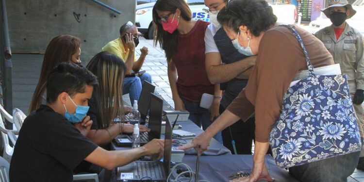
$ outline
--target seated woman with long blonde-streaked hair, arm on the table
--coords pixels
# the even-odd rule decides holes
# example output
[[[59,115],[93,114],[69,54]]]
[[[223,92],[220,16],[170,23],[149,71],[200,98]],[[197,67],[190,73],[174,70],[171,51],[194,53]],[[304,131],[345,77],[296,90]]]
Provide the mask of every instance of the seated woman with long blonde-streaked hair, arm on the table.
[[[98,77],[92,98],[88,101],[90,109],[87,113],[93,121],[87,137],[98,145],[110,143],[120,132],[132,133],[131,124],[112,124],[116,117],[122,117],[123,100],[122,85],[126,66],[120,58],[109,52],[99,52],[88,63],[86,68]],[[140,126],[140,131],[148,129]]]

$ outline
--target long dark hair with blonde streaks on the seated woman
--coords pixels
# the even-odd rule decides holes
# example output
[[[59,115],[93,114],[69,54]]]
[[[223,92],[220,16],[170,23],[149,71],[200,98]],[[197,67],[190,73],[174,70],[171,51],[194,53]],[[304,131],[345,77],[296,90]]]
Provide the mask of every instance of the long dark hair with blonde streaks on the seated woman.
[[[98,77],[99,86],[94,88],[92,98],[97,105],[97,121],[101,129],[108,128],[111,122],[124,115],[122,86],[126,66],[116,55],[99,52],[86,66]]]

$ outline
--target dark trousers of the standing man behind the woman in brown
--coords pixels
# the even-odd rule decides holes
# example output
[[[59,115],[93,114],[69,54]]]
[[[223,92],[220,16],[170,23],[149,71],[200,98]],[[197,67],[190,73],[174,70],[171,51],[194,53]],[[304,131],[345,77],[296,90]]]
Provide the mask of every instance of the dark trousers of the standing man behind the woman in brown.
[[[225,108],[220,105],[220,115],[225,111]],[[230,132],[231,131],[231,132]],[[254,139],[255,118],[251,117],[247,122],[239,120],[221,132],[223,145],[230,149],[232,154],[232,139],[235,141],[237,154],[251,155],[251,145]]]

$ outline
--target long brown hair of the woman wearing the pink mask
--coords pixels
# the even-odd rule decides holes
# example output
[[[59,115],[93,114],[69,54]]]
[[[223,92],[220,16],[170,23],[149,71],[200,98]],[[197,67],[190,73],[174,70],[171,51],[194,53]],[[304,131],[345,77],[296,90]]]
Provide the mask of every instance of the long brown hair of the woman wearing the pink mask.
[[[178,31],[176,30],[172,34],[164,31],[157,10],[176,13],[177,8],[181,11],[181,18],[186,21],[192,19],[191,10],[185,0],[157,0],[153,7],[154,37],[156,37],[154,45],[157,46],[157,43],[159,43],[161,48],[165,50],[167,61],[170,61],[177,51]]]

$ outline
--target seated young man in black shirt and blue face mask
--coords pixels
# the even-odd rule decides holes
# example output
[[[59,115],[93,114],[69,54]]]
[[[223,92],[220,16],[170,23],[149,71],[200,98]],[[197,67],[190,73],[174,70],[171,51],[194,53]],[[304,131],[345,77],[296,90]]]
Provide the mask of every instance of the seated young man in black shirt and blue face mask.
[[[19,132],[10,181],[72,182],[72,170],[83,160],[112,169],[145,155],[163,156],[162,140],[135,149],[107,151],[84,136],[92,124],[86,116],[87,100],[97,84],[95,75],[75,64],[61,63],[52,70],[47,80],[47,105],[28,116]]]

